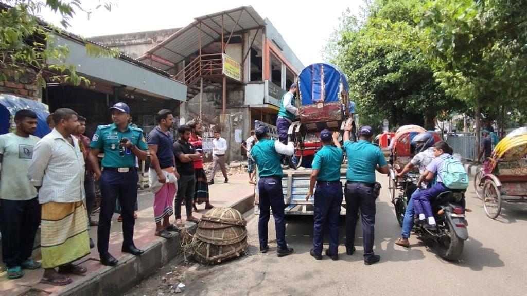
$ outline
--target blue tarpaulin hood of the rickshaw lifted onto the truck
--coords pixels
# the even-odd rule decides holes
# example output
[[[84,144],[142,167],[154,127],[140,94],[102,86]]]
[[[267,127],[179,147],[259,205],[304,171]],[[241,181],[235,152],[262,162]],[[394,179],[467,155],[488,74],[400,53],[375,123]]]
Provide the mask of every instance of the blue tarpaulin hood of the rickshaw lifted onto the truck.
[[[349,91],[346,75],[335,65],[328,63],[317,63],[305,67],[298,75],[298,82],[302,106],[313,105],[317,102],[338,102],[340,87],[343,87],[345,92]]]

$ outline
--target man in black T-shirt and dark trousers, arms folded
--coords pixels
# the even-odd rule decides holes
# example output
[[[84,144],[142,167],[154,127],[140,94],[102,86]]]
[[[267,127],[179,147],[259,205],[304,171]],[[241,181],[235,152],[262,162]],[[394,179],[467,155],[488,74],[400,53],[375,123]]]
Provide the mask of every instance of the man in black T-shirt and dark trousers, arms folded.
[[[187,210],[187,221],[198,223],[199,219],[192,216],[192,197],[194,195],[194,160],[199,160],[201,154],[194,149],[189,143],[190,127],[182,125],[178,129],[179,140],[176,141],[172,148],[174,150],[175,166],[179,172],[178,193],[175,195],[175,225],[185,226],[181,221],[181,202],[185,199],[185,208]]]

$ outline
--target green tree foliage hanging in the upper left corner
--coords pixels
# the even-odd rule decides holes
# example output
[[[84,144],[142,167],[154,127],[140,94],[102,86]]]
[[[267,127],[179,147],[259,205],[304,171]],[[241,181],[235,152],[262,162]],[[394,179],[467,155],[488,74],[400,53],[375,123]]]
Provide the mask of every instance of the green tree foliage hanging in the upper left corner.
[[[108,11],[112,3],[99,3]],[[38,18],[43,9],[51,9],[61,16],[63,28],[45,23]],[[67,46],[57,44],[57,36],[70,26],[77,11],[90,14],[80,0],[7,0],[0,1],[0,67],[21,75],[28,68],[36,72],[35,84],[46,86],[48,81],[61,81],[79,85],[89,84],[86,77],[78,75],[75,65],[66,64]],[[86,54],[90,56],[118,56],[119,52],[87,43]],[[0,81],[7,79],[0,72]]]

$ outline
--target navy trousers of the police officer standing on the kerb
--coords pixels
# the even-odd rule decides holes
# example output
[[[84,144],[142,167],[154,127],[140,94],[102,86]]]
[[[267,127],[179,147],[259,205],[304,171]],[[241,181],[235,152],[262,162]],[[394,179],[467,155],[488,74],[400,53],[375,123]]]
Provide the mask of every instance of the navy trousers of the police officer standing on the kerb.
[[[132,246],[134,204],[137,201],[137,182],[139,176],[135,170],[119,173],[104,170],[99,180],[101,188],[101,213],[97,227],[97,249],[100,254],[108,252],[110,240],[110,226],[115,210],[115,201],[118,196],[121,203],[121,216],[123,217],[123,246]]]

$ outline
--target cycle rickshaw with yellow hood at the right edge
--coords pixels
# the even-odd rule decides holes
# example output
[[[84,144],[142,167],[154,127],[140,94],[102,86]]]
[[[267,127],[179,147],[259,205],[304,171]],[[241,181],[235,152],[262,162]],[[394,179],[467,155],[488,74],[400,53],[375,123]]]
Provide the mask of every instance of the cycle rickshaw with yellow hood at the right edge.
[[[474,187],[487,216],[496,219],[502,202],[527,202],[527,127],[506,135],[486,166],[476,173]]]

